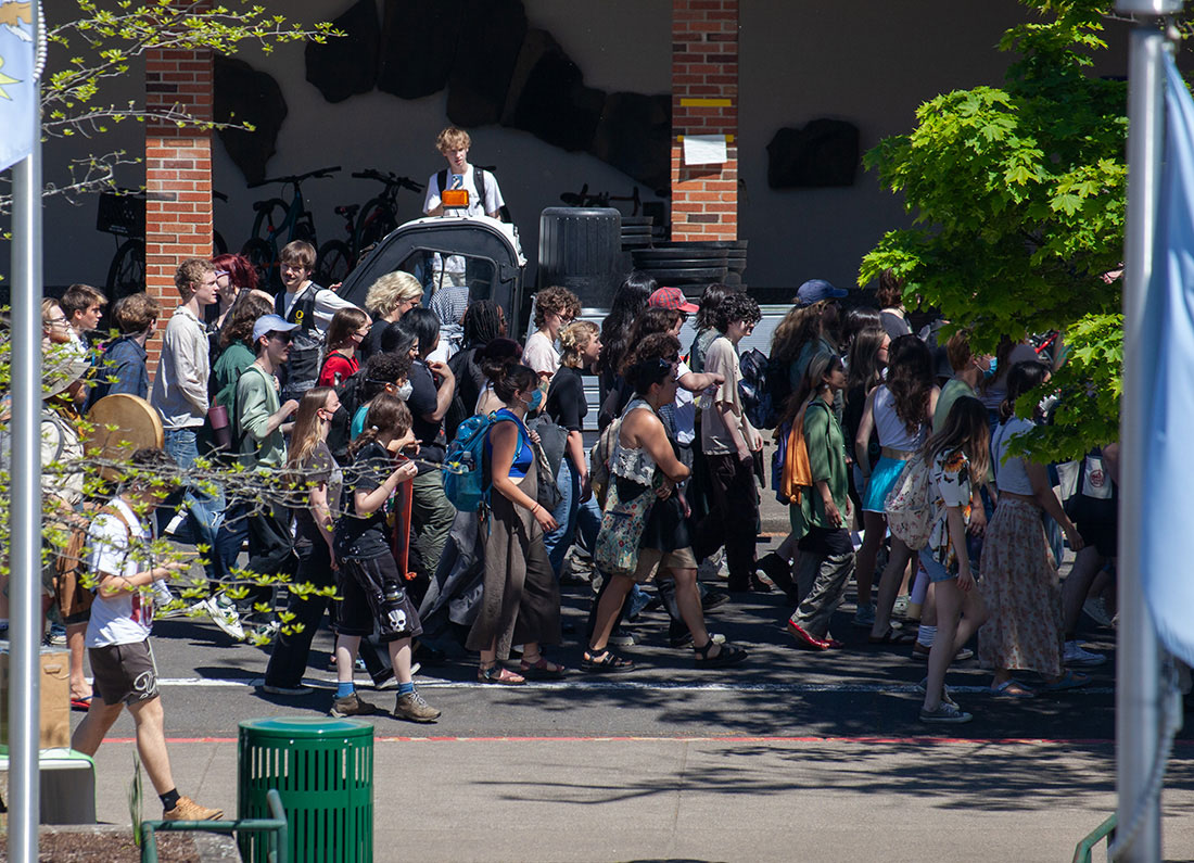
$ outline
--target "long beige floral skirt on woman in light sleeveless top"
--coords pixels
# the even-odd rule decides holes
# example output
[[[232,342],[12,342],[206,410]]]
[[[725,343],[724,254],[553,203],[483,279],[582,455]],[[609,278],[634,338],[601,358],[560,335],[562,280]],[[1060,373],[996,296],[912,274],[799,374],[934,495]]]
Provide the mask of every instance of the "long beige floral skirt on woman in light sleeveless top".
[[[983,542],[979,588],[990,617],[978,635],[984,668],[1061,673],[1061,585],[1041,512],[1003,497]]]

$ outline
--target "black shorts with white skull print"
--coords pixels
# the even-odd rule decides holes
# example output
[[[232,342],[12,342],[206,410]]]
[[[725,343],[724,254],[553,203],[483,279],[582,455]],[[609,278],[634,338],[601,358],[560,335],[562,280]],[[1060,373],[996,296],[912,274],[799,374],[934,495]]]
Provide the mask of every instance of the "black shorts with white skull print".
[[[383,554],[363,560],[341,560],[336,579],[340,596],[333,628],[340,635],[373,635],[376,627],[381,641],[413,639],[423,634],[419,612],[414,608],[393,555]],[[395,608],[386,608],[386,587],[396,584],[402,599]]]

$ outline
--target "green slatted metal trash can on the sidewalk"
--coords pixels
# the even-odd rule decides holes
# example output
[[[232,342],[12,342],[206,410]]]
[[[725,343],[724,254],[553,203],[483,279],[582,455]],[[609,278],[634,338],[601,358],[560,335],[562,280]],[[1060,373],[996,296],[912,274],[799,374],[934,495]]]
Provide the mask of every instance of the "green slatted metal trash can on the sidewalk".
[[[373,863],[374,727],[349,719],[263,719],[240,723],[240,818],[270,818],[278,789],[290,822],[291,863]],[[241,855],[265,861],[266,843],[241,838]]]

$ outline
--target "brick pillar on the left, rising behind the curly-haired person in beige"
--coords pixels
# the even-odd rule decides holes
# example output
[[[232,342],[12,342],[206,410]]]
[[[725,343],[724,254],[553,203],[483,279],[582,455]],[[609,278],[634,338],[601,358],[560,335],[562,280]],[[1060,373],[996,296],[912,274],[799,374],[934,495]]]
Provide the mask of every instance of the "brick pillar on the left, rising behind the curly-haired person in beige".
[[[208,4],[210,5],[210,0]],[[146,53],[146,107],[210,122],[211,51]],[[186,258],[211,257],[211,131],[173,122],[146,122],[146,290],[165,321],[179,303],[174,271]],[[156,368],[160,341],[147,345]]]

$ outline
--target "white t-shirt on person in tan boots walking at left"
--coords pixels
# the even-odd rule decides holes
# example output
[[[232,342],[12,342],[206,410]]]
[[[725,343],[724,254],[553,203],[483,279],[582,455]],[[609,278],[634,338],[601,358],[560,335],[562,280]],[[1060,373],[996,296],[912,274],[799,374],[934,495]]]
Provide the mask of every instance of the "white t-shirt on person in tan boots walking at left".
[[[110,506],[124,516],[129,528],[125,529],[119,518],[109,513],[100,513],[92,519],[87,528],[87,543],[91,545],[88,566],[97,580],[104,575],[131,578],[149,568],[144,556],[130,554],[129,548],[130,537],[134,548],[142,548],[153,541],[153,534],[123,499],[112,499]],[[87,622],[86,643],[87,647],[136,645],[149,637],[152,627],[152,586],[122,591],[115,597],[105,597],[97,587],[91,619]]]

